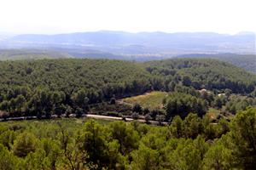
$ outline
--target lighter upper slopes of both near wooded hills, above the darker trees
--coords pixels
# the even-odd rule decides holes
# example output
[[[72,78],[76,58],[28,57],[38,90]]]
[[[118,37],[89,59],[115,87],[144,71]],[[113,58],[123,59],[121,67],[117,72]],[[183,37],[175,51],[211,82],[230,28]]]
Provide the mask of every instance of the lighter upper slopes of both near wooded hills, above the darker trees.
[[[252,92],[256,82],[256,75],[217,59],[164,59],[146,63],[113,59],[38,59],[1,61],[0,68],[2,90],[26,86],[61,90],[67,94],[81,88],[101,91],[106,96],[123,95],[128,91],[137,94],[152,88],[164,89],[172,81],[198,89],[230,88],[242,94]]]

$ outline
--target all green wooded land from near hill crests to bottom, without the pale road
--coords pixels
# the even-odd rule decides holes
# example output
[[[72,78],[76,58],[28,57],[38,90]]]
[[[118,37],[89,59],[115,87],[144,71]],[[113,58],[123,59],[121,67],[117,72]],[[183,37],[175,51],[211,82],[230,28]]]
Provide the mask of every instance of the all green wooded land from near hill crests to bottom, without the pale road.
[[[0,169],[254,168],[256,75],[234,65],[38,59],[0,68]],[[37,120],[8,121],[20,116]]]

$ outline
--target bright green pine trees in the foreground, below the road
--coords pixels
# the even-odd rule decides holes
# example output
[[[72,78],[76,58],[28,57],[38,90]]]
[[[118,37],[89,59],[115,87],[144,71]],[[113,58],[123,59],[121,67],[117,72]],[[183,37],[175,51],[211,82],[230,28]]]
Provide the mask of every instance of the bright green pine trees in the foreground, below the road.
[[[253,169],[256,109],[167,127],[79,119],[0,123],[0,169]]]

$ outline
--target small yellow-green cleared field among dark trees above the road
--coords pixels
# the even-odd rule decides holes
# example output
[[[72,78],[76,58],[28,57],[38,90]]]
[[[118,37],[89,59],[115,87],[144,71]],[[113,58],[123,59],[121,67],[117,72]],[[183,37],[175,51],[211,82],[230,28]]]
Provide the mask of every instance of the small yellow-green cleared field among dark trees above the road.
[[[161,109],[163,107],[162,101],[166,98],[167,95],[168,93],[166,92],[154,91],[131,98],[125,98],[121,101],[131,105],[137,103],[139,105],[142,105],[143,107],[148,107],[149,109]]]

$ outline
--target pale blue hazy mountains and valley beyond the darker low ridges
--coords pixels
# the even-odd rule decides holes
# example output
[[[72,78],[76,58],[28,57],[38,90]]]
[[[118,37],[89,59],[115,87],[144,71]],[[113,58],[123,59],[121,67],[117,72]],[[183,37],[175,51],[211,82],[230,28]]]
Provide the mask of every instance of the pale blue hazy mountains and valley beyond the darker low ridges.
[[[117,55],[170,56],[191,53],[255,54],[255,34],[212,32],[96,31],[57,35],[26,34],[0,42],[0,48],[76,48]]]

